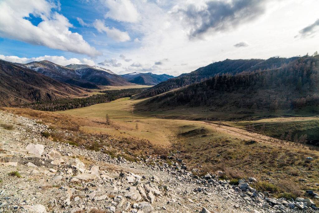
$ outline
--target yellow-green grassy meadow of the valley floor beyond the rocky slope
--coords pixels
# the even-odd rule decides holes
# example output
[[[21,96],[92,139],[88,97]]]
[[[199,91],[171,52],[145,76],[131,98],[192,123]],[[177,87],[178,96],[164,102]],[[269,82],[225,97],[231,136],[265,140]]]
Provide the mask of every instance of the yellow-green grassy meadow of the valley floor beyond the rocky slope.
[[[178,150],[181,153],[175,154],[175,157],[182,158],[190,169],[199,169],[199,175],[222,170],[226,173],[223,178],[232,181],[253,176],[259,180],[256,188],[276,196],[283,196],[283,193],[286,197],[304,196],[306,189],[319,190],[316,185],[319,183],[318,151],[308,146],[278,143],[272,137],[293,127],[304,127],[315,132],[313,128],[317,128],[318,117],[222,121],[219,127],[217,122],[191,120],[205,115],[203,113],[210,114],[204,109],[172,110],[169,113],[159,111],[156,114],[136,111],[134,105],[143,100],[121,98],[110,103],[58,112],[8,109],[20,115],[42,118],[44,122],[56,126],[70,126],[70,129],[72,125],[77,126],[79,131],[88,135],[109,135],[124,141],[149,141],[152,146],[165,149],[166,153],[168,150]],[[107,114],[109,125],[105,118]],[[256,126],[256,131],[246,130],[246,126],[251,124]],[[259,134],[258,126],[263,124],[267,127],[265,133]],[[313,160],[307,160],[308,156]]]

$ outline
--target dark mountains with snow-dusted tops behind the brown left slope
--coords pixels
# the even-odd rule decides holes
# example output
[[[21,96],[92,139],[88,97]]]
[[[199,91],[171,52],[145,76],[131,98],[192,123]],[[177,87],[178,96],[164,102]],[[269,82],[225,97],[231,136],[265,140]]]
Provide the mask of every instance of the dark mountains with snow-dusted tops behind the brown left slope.
[[[28,64],[17,64],[32,69],[55,80],[84,88],[99,88],[98,85],[130,85],[124,78],[110,70],[89,65],[57,65],[50,61],[34,61]]]

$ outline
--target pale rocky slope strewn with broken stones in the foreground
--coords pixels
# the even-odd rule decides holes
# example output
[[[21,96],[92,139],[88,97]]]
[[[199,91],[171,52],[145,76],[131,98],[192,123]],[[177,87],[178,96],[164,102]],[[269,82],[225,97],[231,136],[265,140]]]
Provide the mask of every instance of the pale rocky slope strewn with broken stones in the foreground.
[[[83,213],[96,208],[124,213],[317,209],[310,199],[269,198],[268,193],[249,186],[256,181],[254,178],[242,179],[239,185],[232,186],[213,174],[194,176],[181,161],[169,165],[147,156],[132,163],[100,151],[51,141],[44,137],[46,132],[72,133],[48,129],[36,120],[5,111],[0,111],[0,120],[0,212]]]

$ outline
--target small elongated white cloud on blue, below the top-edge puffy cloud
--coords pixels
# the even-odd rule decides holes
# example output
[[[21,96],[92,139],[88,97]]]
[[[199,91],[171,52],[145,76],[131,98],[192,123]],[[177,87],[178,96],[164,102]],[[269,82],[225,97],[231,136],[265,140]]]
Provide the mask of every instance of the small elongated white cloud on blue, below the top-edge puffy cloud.
[[[99,20],[99,19],[95,19],[93,26],[100,33],[105,32],[108,35],[108,37],[110,37],[111,39],[113,39],[116,42],[126,42],[126,41],[131,40],[131,38],[127,32],[123,32],[123,31],[116,29],[114,27],[112,27],[112,28],[106,27],[104,25],[104,22]]]

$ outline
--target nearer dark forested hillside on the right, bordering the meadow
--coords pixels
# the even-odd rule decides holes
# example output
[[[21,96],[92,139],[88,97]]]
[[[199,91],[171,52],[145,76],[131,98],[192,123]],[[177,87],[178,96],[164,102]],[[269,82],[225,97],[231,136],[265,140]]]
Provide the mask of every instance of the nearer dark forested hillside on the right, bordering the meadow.
[[[279,69],[250,74],[223,74],[155,96],[137,105],[140,110],[205,106],[222,113],[300,110],[318,113],[319,56],[301,57]],[[195,109],[194,109],[195,110]]]

